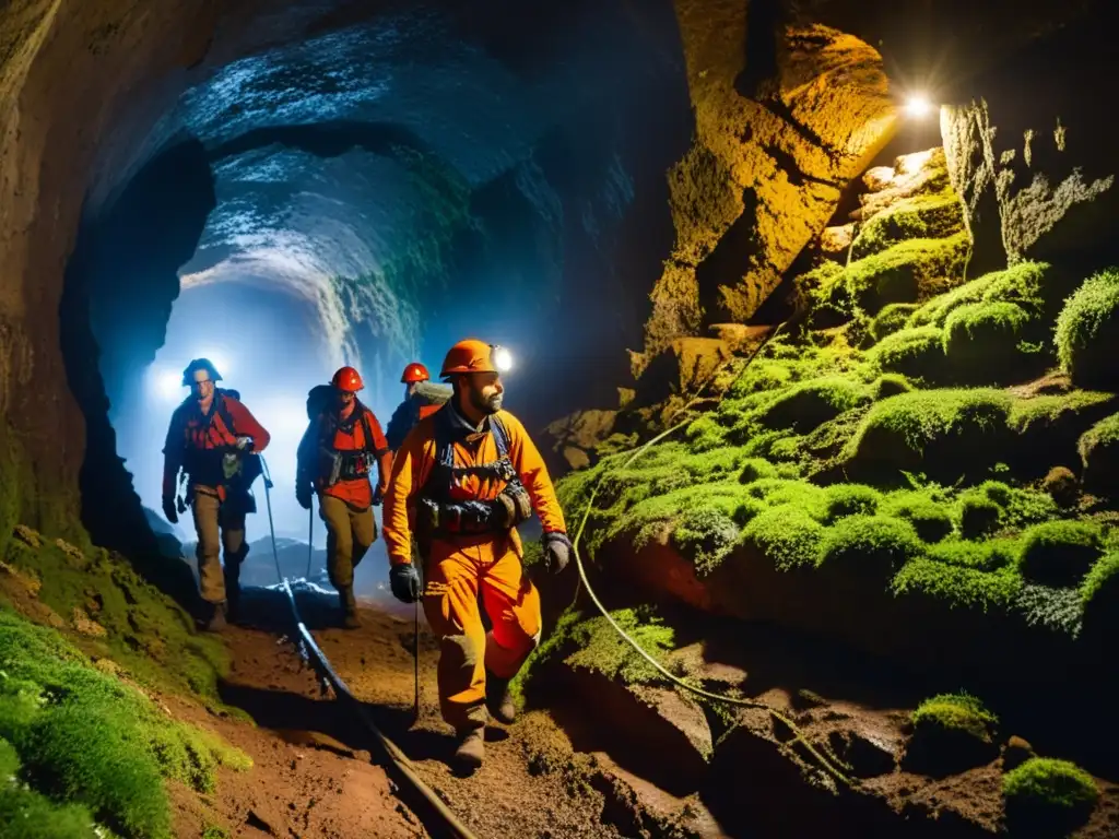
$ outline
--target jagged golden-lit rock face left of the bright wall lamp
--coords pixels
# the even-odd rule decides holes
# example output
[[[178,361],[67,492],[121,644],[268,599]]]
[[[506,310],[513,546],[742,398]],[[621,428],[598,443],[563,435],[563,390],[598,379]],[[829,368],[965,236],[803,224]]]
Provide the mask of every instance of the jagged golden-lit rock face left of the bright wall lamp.
[[[676,247],[636,371],[705,320],[752,314],[894,128],[881,58],[857,38],[784,27],[765,3],[676,7],[696,136],[669,173]]]

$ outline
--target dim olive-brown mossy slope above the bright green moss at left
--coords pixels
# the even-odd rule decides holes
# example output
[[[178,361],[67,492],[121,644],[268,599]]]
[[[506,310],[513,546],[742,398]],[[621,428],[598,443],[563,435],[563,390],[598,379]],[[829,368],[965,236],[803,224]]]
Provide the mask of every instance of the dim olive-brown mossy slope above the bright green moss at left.
[[[6,558],[43,581],[38,597],[58,614],[79,607],[104,626],[104,640],[86,642],[92,651],[142,685],[218,700],[217,680],[228,669],[224,644],[199,635],[191,616],[126,559],[96,548],[76,555],[50,539],[35,549],[13,541]]]

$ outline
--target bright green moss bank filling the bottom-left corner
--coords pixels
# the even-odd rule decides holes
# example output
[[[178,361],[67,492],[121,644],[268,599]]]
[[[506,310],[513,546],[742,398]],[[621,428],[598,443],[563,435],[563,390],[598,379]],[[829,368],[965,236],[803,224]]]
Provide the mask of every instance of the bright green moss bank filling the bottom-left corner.
[[[250,765],[11,613],[0,613],[0,737],[15,745],[26,779],[121,836],[170,836],[163,777],[208,792],[219,763]]]

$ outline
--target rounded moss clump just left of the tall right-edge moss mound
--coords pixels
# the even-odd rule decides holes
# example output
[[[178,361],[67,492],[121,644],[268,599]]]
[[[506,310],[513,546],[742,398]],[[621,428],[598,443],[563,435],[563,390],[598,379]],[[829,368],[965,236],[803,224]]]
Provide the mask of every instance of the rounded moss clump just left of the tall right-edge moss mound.
[[[1044,362],[1024,345],[1031,314],[1015,303],[961,305],[944,321],[944,356],[958,381],[988,385],[1029,378]]]

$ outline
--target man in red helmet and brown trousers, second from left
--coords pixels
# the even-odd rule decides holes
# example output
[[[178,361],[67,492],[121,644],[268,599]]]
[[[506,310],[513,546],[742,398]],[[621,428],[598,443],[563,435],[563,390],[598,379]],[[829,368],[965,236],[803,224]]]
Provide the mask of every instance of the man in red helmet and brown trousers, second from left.
[[[377,539],[373,506],[385,493],[393,453],[376,415],[357,398],[365,387],[358,371],[341,367],[330,384],[333,398],[311,418],[299,444],[295,498],[310,510],[311,491],[319,493],[319,516],[327,524],[327,573],[338,590],[344,625],[357,629],[354,569]],[[319,399],[321,392],[308,395],[308,414]],[[374,461],[376,492],[369,482]]]

